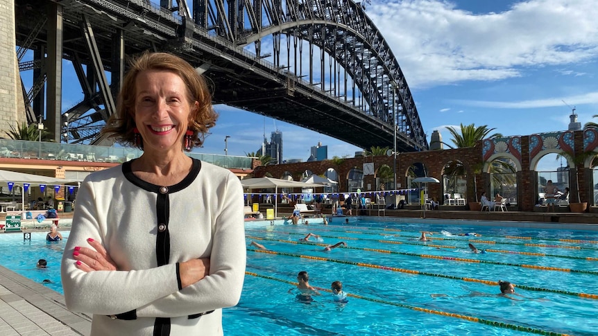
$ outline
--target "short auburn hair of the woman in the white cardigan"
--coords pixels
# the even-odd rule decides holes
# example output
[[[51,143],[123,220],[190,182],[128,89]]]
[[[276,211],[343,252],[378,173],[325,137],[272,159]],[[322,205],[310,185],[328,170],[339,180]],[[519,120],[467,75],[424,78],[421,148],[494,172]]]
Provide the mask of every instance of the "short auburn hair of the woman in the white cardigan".
[[[189,105],[198,103],[197,108],[191,108],[189,114],[189,130],[191,148],[201,147],[205,134],[216,125],[218,114],[212,107],[212,94],[205,79],[194,67],[182,58],[170,53],[142,53],[130,62],[130,69],[123,79],[123,86],[117,98],[117,112],[110,116],[101,134],[108,135],[121,145],[143,149],[143,144],[135,143],[135,96],[137,94],[136,80],[139,73],[147,70],[171,71],[178,75],[187,85]],[[181,143],[182,146],[182,143]]]

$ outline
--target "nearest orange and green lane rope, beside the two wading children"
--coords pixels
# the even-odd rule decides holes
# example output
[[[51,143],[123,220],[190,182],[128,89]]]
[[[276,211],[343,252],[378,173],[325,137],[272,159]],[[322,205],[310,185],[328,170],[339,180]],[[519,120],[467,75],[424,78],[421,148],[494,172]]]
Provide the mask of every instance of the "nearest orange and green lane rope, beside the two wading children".
[[[264,251],[267,252],[267,251]],[[255,276],[258,278],[265,278],[268,280],[272,280],[272,281],[280,281],[282,283],[289,283],[289,284],[293,284],[296,285],[296,283],[292,283],[291,281],[285,281],[279,278],[275,278],[273,276],[265,276],[265,275],[261,275],[261,274],[257,274],[257,273],[253,273],[253,272],[245,272],[246,275],[250,275],[250,276]],[[318,288],[319,290],[323,290],[325,292],[330,292],[330,290],[326,290],[323,288]],[[398,303],[398,302],[392,302],[392,301],[386,301],[386,300],[382,300],[382,299],[376,299],[376,298],[372,298],[372,297],[364,297],[363,295],[359,295],[359,294],[354,294],[354,293],[348,293],[347,294],[348,297],[354,297],[356,299],[361,299],[361,300],[366,300],[366,301],[371,301],[371,302],[375,302],[375,303],[382,303],[382,304],[386,304],[389,306],[396,306],[396,307],[400,307],[400,308],[407,308],[407,309],[411,309],[411,310],[415,310],[418,312],[427,312],[428,314],[434,314],[434,315],[441,315],[441,316],[446,316],[446,317],[453,317],[456,319],[463,319],[465,321],[470,321],[470,322],[476,322],[479,324],[486,324],[488,326],[494,326],[497,328],[506,328],[506,329],[512,329],[512,330],[520,330],[520,331],[524,331],[527,333],[533,333],[533,334],[538,334],[538,335],[549,335],[549,336],[570,336],[569,334],[563,334],[563,333],[556,333],[554,331],[547,331],[547,330],[542,330],[539,328],[532,328],[532,327],[527,327],[527,326],[520,326],[517,324],[509,324],[509,323],[504,323],[504,322],[499,322],[499,321],[492,321],[490,319],[482,319],[479,317],[472,317],[472,316],[468,316],[468,315],[461,315],[461,314],[456,314],[454,312],[443,312],[442,310],[434,310],[434,309],[428,309],[428,308],[420,308],[417,306],[411,306],[411,305],[406,305],[404,303]]]

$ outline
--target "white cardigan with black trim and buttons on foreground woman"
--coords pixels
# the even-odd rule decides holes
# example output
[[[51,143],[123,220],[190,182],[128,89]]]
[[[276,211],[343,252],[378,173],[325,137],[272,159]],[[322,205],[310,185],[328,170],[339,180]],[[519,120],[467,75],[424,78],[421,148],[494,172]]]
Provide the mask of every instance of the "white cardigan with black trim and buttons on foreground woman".
[[[94,315],[92,335],[222,335],[221,308],[237,304],[245,274],[239,179],[194,159],[166,191],[135,177],[130,163],[93,173],[79,188],[62,256],[67,308]],[[89,247],[87,238],[102,243],[118,271],[75,267],[74,247]],[[210,275],[181,290],[178,263],[205,257]]]

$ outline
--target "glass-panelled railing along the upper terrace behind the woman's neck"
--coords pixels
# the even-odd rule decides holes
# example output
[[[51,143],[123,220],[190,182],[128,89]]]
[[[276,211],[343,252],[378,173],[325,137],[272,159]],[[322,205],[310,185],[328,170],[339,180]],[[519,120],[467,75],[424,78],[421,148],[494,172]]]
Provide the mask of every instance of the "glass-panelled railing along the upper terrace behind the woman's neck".
[[[122,163],[140,157],[142,153],[135,148],[0,139],[0,157],[19,159]],[[187,155],[223,168],[238,169],[251,169],[253,159],[196,152]]]

